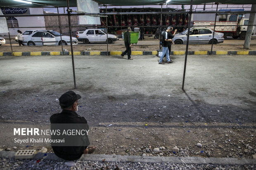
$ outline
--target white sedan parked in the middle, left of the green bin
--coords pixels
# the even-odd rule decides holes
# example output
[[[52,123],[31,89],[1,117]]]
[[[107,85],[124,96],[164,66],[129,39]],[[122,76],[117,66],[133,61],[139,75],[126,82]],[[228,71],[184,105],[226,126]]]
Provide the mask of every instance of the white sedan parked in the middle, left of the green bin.
[[[107,34],[100,29],[85,30],[82,34],[77,35],[77,39],[78,41],[83,42],[83,44],[89,44],[90,42],[107,42],[107,35],[109,44],[118,40],[116,35]]]

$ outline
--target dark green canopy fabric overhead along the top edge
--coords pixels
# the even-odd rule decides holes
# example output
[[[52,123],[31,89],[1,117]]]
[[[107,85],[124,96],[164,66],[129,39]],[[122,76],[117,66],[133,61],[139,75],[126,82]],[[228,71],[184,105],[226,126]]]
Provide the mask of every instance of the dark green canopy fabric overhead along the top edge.
[[[14,0],[0,0],[0,7],[66,7],[66,0],[27,0],[32,4],[26,4],[24,2],[17,2]],[[95,0],[99,4],[108,5],[154,5],[163,4],[166,0]],[[205,4],[205,3],[223,3],[223,4],[256,4],[256,0],[193,0],[193,4]],[[173,5],[188,5],[190,0],[171,0],[168,4]],[[76,0],[69,0],[69,7],[76,7]]]

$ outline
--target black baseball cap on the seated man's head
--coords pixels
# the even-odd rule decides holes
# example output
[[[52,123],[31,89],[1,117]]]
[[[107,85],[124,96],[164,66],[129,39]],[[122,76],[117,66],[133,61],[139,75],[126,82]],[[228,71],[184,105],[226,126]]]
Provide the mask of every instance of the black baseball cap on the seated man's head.
[[[67,91],[59,98],[59,105],[62,107],[71,106],[76,100],[81,99],[81,95],[76,94],[73,91]]]

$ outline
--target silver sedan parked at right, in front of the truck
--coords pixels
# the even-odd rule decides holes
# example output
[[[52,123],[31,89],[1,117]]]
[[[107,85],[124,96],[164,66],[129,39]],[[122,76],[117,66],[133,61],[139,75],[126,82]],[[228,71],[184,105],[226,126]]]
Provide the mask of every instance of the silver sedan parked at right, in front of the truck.
[[[187,29],[188,30],[188,29]],[[182,33],[178,33],[173,37],[175,44],[186,44],[187,43],[187,30]],[[214,33],[209,28],[192,28],[190,30],[189,44],[217,44],[224,42],[223,33]]]

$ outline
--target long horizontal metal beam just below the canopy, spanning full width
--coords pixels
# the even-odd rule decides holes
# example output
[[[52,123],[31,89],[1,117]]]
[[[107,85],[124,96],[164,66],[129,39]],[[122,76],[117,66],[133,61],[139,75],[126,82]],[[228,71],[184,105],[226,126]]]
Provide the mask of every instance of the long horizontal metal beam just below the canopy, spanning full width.
[[[235,11],[194,11],[192,14],[255,14],[255,12],[251,11],[241,11],[241,12],[235,12]],[[79,13],[79,14],[70,14],[71,16],[76,15],[140,15],[140,14],[190,14],[190,12],[185,11],[175,11],[175,12],[108,12],[108,13]],[[0,17],[12,17],[12,16],[67,16],[68,14],[7,14],[7,15],[0,15]]]

